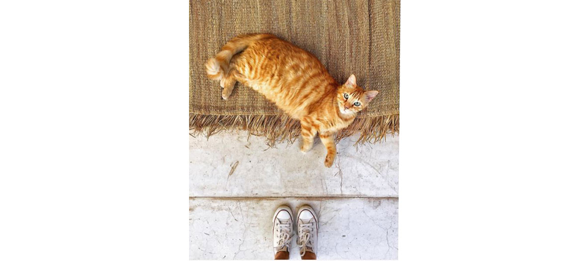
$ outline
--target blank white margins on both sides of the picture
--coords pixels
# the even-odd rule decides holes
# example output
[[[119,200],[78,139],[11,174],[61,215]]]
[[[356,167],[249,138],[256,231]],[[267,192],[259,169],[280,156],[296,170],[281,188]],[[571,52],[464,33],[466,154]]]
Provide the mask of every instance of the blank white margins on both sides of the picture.
[[[585,259],[583,1],[403,1],[400,260]],[[0,259],[188,258],[188,2],[0,4]]]

